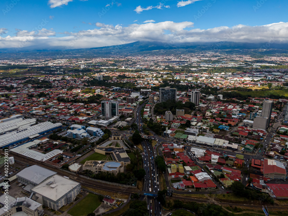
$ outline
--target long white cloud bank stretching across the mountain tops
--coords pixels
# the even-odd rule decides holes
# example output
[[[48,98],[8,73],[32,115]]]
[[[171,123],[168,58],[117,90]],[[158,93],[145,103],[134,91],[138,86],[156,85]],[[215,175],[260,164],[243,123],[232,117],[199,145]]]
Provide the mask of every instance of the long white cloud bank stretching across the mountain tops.
[[[16,36],[0,36],[0,48],[41,46],[46,48],[65,47],[91,48],[126,44],[135,41],[163,42],[176,44],[184,42],[245,42],[245,43],[288,43],[288,22],[263,26],[236,25],[220,26],[212,29],[193,29],[193,22],[148,22],[133,23],[128,26],[107,25],[97,22],[95,29],[78,32],[58,33],[53,29],[26,31],[16,29]],[[0,34],[7,32],[0,28]],[[260,47],[259,47],[260,48]]]

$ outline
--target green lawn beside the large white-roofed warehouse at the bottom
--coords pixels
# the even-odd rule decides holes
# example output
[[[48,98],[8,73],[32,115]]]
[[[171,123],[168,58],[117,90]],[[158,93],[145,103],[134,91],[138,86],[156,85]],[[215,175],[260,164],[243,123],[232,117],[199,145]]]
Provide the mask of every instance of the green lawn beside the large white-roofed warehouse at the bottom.
[[[83,200],[78,202],[72,209],[68,211],[68,214],[73,216],[87,215],[95,211],[101,202],[98,200],[98,196],[95,194],[88,194]]]

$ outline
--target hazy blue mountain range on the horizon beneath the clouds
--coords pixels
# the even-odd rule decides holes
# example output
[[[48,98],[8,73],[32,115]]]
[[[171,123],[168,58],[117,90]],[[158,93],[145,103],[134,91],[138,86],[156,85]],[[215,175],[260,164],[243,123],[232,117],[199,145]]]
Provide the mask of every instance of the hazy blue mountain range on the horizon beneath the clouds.
[[[41,58],[93,58],[109,56],[129,56],[129,55],[170,55],[189,54],[200,52],[220,52],[227,54],[240,54],[251,56],[262,55],[282,55],[286,56],[288,44],[276,43],[181,43],[167,44],[160,42],[133,42],[116,46],[104,46],[97,48],[69,49],[57,48],[37,48],[25,47],[22,49],[7,48],[0,49],[1,59],[41,59]]]

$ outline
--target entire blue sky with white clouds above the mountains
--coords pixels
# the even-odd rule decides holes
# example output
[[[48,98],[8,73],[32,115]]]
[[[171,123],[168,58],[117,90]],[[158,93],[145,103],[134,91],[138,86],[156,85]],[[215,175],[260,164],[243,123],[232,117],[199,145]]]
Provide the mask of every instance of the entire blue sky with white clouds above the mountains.
[[[284,0],[1,0],[0,48],[287,43],[287,8]]]

